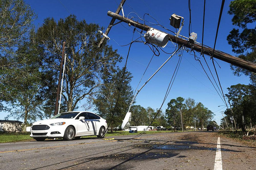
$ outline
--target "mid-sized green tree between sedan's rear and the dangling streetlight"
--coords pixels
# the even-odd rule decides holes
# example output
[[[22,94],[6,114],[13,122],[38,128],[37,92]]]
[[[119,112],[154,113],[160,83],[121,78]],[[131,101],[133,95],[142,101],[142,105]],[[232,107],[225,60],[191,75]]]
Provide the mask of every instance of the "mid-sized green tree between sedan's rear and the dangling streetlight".
[[[131,96],[133,95],[130,85],[132,75],[126,70],[122,83],[121,77],[123,75],[123,70],[124,68],[117,68],[117,71],[104,79],[104,86],[100,86],[100,92],[96,95],[96,98],[93,101],[95,111],[108,121],[108,124],[110,124],[111,127],[111,132],[113,132],[113,128],[121,126],[122,120],[128,110],[129,103],[131,103]],[[137,115],[133,114],[132,117],[133,116]]]

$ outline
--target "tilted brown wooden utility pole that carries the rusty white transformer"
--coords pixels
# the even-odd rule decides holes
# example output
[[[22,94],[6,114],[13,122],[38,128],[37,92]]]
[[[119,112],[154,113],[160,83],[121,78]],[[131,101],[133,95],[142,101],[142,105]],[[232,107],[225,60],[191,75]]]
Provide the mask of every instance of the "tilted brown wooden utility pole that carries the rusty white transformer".
[[[120,8],[119,8],[119,11],[120,11]],[[122,22],[125,22],[127,24],[131,24],[132,26],[135,26],[136,28],[139,28],[143,31],[148,31],[148,29],[151,28],[147,25],[141,24],[139,22],[135,22],[131,19],[125,18],[125,17],[123,17],[123,16],[121,16],[117,13],[111,12],[111,11],[108,11],[108,16],[111,16],[112,20],[114,19],[114,21],[115,21],[115,19],[118,19],[118,20],[120,20]],[[112,25],[113,25],[113,23],[112,23]],[[109,32],[109,30],[107,29],[108,32]],[[105,33],[106,35],[108,33],[107,31]],[[166,34],[168,34],[168,33],[166,33]],[[200,53],[202,52],[205,55],[212,56],[212,53],[213,53],[212,48],[208,48],[208,47],[204,46],[203,49],[202,49],[202,46],[200,44],[190,44],[190,43],[188,43],[187,40],[176,37],[176,35],[168,34],[168,36],[173,42],[177,42],[177,44],[179,44],[179,45],[183,45],[183,46],[188,47],[188,48],[193,48],[193,50],[195,50],[197,52],[200,52]],[[256,73],[256,63],[253,63],[251,61],[247,61],[245,59],[234,57],[230,54],[227,54],[227,53],[224,53],[224,52],[221,52],[221,51],[218,51],[218,50],[214,51],[214,55],[212,57],[220,59],[222,61],[228,62],[230,64],[236,65],[238,67],[241,67],[243,69],[247,69],[249,71],[252,71],[252,72]]]

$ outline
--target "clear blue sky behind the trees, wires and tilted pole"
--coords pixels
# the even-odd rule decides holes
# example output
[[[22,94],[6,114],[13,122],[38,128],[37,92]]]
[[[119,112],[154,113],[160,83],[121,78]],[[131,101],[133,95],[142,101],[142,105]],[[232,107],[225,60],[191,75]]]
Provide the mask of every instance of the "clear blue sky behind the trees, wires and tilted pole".
[[[65,7],[60,3],[63,3]],[[107,27],[111,18],[107,16],[107,11],[115,12],[117,8],[117,3],[120,0],[110,0],[110,1],[67,1],[67,0],[54,0],[54,1],[29,1],[26,2],[31,6],[31,8],[36,12],[38,18],[34,21],[36,27],[42,25],[43,20],[47,17],[53,17],[55,20],[59,18],[65,18],[70,15],[69,12],[75,14],[79,20],[85,19],[88,23],[97,23],[100,26]],[[235,26],[232,25],[232,16],[228,14],[228,5],[230,1],[226,1],[224,5],[224,10],[222,14],[222,19],[220,22],[218,39],[216,42],[216,49],[229,53],[231,55],[236,55],[232,52],[231,46],[228,44],[226,37],[229,32]],[[220,12],[221,0],[218,1],[207,1],[206,11],[205,11],[205,33],[204,33],[204,44],[213,47],[215,33],[218,23],[218,16]],[[67,9],[66,9],[67,8]],[[164,25],[166,28],[176,31],[172,26],[170,26],[170,15],[176,13],[179,16],[184,17],[184,26],[181,31],[181,35],[188,37],[188,27],[189,27],[189,10],[188,1],[145,1],[145,0],[127,0],[123,6],[125,15],[130,12],[136,12],[139,16],[143,17],[144,13],[149,13],[153,16],[160,24]],[[137,17],[135,13],[130,13],[131,16]],[[137,20],[137,18],[135,18]],[[145,20],[156,23],[155,20],[146,16]],[[142,22],[142,21],[139,21]],[[197,41],[202,41],[202,23],[203,23],[203,0],[191,0],[191,23],[192,32],[197,33]],[[156,27],[160,30],[162,28]],[[105,32],[105,30],[102,30]],[[165,30],[163,30],[165,31]],[[123,23],[115,25],[112,27],[109,37],[110,41],[108,44],[112,45],[113,48],[118,49],[118,53],[126,57],[128,52],[128,46],[121,47],[120,45],[128,44],[131,42],[133,35],[133,27],[129,27],[127,24]],[[139,37],[139,34],[135,33],[135,38]],[[118,43],[118,44],[117,44]],[[166,52],[172,52],[174,46],[169,41],[167,46],[164,48]],[[152,57],[152,52],[143,43],[134,43],[132,45],[127,69],[133,74],[133,79],[131,86],[135,89],[139,83],[139,80],[148,64],[150,58]],[[147,70],[141,85],[162,65],[162,63],[169,57],[168,54],[161,52],[160,56],[154,56],[150,68]],[[212,67],[212,61],[208,56],[206,59],[210,65],[211,70],[214,72]],[[175,66],[177,64],[178,56],[173,57],[151,80],[150,82],[141,90],[136,98],[136,104],[143,107],[152,107],[154,109],[161,106],[163,97],[165,95],[168,83],[173,74]],[[234,84],[248,84],[249,78],[246,76],[234,76],[230,70],[230,64],[224,61],[216,59],[218,64],[217,71],[221,81],[224,94],[228,91],[226,88]],[[120,67],[124,65],[124,61],[119,64]],[[216,64],[217,65],[217,64]],[[206,66],[205,66],[206,68]],[[140,87],[139,86],[139,87]],[[220,123],[221,113],[224,111],[224,106],[218,107],[219,105],[224,105],[216,91],[214,90],[212,84],[206,77],[203,69],[197,61],[195,61],[194,56],[187,52],[184,52],[181,65],[176,76],[175,82],[173,84],[172,90],[166,99],[163,106],[163,111],[167,108],[167,103],[170,99],[176,97],[188,98],[191,97],[196,100],[196,102],[203,103],[208,109],[214,112],[216,116],[214,119]],[[84,104],[83,101],[80,105]],[[221,109],[223,108],[223,109]],[[127,108],[128,109],[128,108]],[[221,109],[220,111],[218,111]],[[80,108],[82,110],[82,108]],[[6,116],[5,113],[1,113],[0,119]]]

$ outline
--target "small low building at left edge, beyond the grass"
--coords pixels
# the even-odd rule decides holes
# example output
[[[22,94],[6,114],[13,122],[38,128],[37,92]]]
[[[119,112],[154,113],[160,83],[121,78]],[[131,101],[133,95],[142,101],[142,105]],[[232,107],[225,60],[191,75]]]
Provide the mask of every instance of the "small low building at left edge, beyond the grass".
[[[18,120],[0,120],[0,131],[21,132],[22,122]]]

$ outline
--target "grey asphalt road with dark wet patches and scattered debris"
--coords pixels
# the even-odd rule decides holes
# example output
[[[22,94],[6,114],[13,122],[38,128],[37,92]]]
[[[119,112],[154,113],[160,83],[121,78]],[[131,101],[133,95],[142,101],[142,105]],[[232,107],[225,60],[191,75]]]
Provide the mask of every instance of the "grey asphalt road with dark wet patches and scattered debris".
[[[220,137],[216,149],[216,132],[131,137],[0,144],[0,169],[256,169],[256,147]]]

